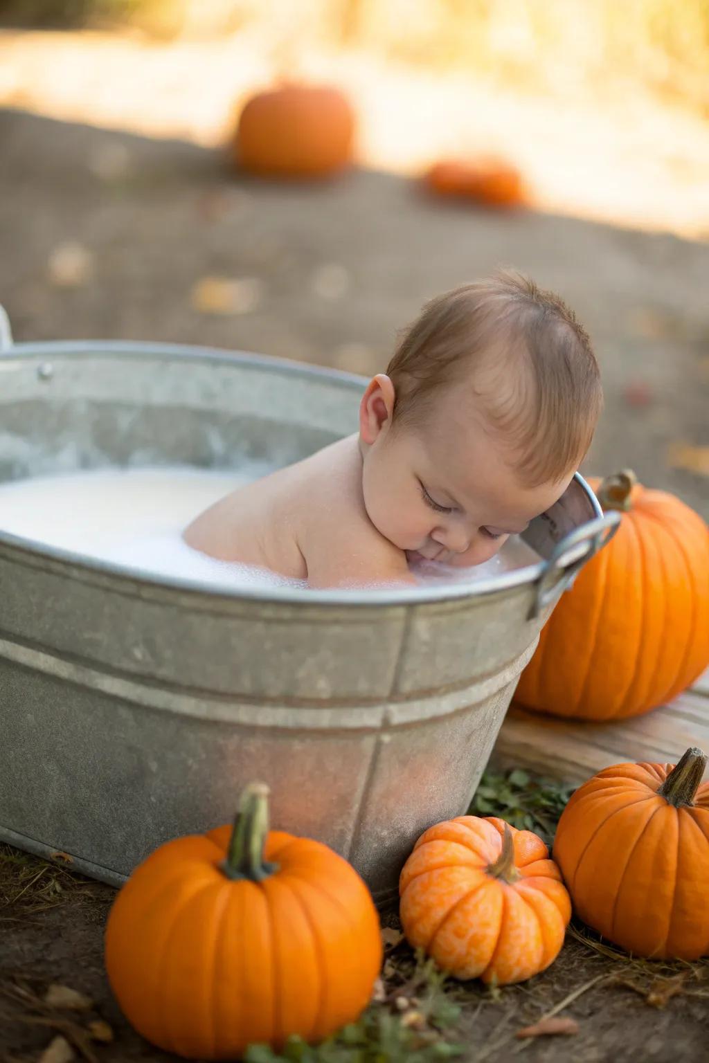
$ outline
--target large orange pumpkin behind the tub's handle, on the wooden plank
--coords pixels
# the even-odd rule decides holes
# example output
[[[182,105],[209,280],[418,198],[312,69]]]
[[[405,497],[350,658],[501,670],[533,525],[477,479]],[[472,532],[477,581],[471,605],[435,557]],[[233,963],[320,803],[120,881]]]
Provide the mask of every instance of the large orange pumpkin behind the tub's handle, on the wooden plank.
[[[670,701],[709,664],[709,528],[630,472],[591,484],[621,525],[556,606],[514,697],[612,720]]]

